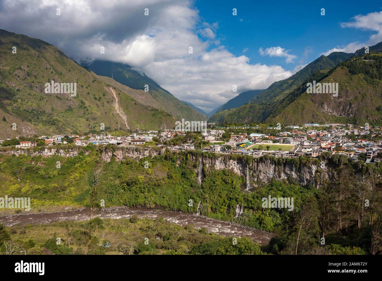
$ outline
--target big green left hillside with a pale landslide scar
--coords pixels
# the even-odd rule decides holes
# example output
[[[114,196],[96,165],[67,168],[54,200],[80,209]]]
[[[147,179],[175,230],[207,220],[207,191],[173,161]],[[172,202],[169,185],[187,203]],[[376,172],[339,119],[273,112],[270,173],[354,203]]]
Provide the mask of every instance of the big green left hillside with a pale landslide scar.
[[[76,95],[45,93],[52,80],[76,83]],[[155,82],[151,86],[155,89]],[[98,76],[47,42],[0,29],[0,139],[98,131],[101,123],[112,130],[155,130],[173,128],[180,117],[202,120],[199,112],[166,95],[173,101],[168,108],[180,104],[179,116],[155,94]]]

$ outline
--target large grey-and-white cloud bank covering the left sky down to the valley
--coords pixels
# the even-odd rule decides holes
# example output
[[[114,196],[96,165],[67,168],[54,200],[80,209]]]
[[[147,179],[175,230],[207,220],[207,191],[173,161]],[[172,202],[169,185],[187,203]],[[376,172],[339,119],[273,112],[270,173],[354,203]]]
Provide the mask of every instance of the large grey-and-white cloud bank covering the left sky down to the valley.
[[[202,21],[191,0],[0,0],[0,26],[47,41],[77,62],[127,63],[204,110],[292,74],[233,55],[220,45],[219,24]]]

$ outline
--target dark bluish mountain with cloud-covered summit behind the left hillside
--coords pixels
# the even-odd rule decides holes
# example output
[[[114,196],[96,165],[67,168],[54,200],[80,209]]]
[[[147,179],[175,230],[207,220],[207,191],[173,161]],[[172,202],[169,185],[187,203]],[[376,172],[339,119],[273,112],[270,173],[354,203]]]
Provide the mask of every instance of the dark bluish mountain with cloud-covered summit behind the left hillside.
[[[177,120],[185,118],[186,120],[204,121],[207,119],[206,116],[203,116],[191,106],[174,97],[169,91],[163,89],[154,80],[145,74],[141,75],[127,64],[96,60],[90,64],[83,63],[83,65],[97,75],[107,77],[113,75],[115,81],[132,89],[145,90],[145,85],[148,85],[148,93],[158,102],[158,109],[166,110]]]

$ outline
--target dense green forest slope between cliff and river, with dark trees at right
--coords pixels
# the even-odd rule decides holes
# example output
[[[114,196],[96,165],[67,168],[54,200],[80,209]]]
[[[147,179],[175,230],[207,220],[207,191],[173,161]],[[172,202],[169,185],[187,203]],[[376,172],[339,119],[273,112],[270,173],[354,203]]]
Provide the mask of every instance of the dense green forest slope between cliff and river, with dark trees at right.
[[[319,160],[222,156],[235,158],[244,165],[248,161],[273,161],[280,168],[294,165],[300,169],[318,165],[320,161],[326,163],[326,168],[318,169],[314,175],[319,183],[317,187],[301,185],[293,178],[274,179],[254,183],[249,193],[245,190],[245,177],[229,169],[204,167],[202,184],[198,184],[198,159],[216,158],[217,154],[166,150],[163,155],[147,156],[139,161],[132,158],[115,161],[112,156],[110,162],[104,162],[102,153],[105,149],[113,150],[112,146],[90,145],[78,149],[79,154],[69,158],[1,154],[0,182],[5,184],[0,187],[0,197],[30,197],[31,212],[63,210],[67,206],[96,209],[92,201],[103,199],[105,207],[125,205],[196,213],[197,206],[188,204],[192,199],[201,201],[202,215],[273,232],[275,237],[262,249],[266,253],[376,254],[382,251],[379,164],[349,162],[345,156],[325,153]],[[97,192],[94,192],[95,182]],[[269,195],[293,197],[294,210],[263,208],[262,198]],[[245,211],[235,218],[238,204]],[[20,211],[23,212],[16,212]]]

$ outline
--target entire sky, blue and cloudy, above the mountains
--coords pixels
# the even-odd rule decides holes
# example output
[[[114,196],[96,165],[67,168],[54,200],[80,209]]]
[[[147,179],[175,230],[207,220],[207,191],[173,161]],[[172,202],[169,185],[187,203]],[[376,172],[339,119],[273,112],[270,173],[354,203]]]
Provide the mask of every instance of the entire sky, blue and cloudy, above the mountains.
[[[0,0],[0,28],[49,42],[80,63],[127,63],[209,112],[321,54],[381,42],[382,2]]]

